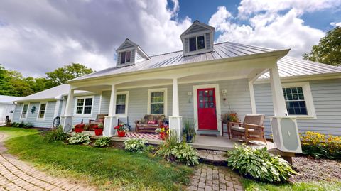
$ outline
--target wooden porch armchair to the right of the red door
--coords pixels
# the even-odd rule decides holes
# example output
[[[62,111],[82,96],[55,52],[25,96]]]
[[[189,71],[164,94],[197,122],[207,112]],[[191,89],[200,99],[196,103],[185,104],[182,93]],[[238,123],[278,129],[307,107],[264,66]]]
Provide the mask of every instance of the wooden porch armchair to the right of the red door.
[[[244,122],[229,122],[232,138],[239,138],[246,143],[249,141],[264,141],[264,119],[265,116],[262,114],[246,115]]]

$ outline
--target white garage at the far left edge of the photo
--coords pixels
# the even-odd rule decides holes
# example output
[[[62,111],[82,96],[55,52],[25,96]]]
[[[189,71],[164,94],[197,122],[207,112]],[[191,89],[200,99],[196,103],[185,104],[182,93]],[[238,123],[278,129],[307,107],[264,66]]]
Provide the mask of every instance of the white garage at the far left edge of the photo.
[[[6,121],[13,119],[13,111],[16,107],[13,101],[20,98],[0,95],[0,124],[5,124]]]

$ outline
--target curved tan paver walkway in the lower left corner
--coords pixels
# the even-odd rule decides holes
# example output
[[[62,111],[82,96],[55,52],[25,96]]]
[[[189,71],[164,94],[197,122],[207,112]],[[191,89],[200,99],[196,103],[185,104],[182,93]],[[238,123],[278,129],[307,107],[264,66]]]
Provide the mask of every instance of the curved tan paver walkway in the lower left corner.
[[[36,170],[27,163],[6,153],[4,139],[0,133],[0,190],[94,190],[72,184],[65,178],[55,178]]]

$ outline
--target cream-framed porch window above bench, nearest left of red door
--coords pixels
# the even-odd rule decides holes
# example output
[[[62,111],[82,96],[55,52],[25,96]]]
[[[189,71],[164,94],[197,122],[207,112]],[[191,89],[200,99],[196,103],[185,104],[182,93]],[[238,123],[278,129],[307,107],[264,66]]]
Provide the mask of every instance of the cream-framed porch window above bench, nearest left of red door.
[[[167,89],[148,89],[148,114],[167,115]]]

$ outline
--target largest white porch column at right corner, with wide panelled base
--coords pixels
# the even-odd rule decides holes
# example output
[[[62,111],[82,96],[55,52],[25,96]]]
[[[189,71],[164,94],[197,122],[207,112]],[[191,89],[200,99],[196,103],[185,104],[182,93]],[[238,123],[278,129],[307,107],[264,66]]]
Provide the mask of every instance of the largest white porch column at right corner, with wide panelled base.
[[[274,116],[271,117],[274,146],[285,153],[302,153],[296,117],[288,116],[277,64],[269,71],[274,102]]]

